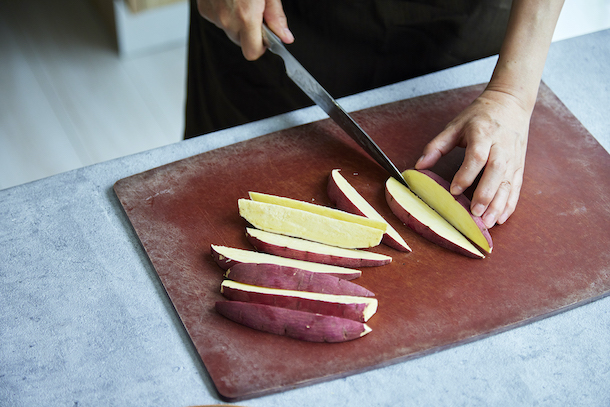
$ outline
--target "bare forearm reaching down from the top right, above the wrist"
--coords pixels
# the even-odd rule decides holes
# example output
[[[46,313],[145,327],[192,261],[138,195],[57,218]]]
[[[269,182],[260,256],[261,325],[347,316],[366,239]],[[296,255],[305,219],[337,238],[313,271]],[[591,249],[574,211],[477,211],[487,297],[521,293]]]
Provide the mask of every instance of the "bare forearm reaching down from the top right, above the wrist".
[[[542,71],[564,0],[514,0],[506,35],[488,90],[534,108]]]

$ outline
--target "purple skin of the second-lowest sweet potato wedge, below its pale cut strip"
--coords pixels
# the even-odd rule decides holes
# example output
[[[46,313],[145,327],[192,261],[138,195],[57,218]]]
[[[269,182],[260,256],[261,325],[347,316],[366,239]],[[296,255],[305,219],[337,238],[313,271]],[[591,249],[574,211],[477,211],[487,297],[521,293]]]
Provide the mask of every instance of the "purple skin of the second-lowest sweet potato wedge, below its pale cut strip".
[[[288,308],[298,311],[312,312],[314,314],[331,315],[340,318],[366,322],[364,319],[364,303],[340,304],[292,297],[279,294],[263,294],[254,291],[223,287],[222,294],[231,301],[254,302],[257,304],[272,305],[274,307]]]

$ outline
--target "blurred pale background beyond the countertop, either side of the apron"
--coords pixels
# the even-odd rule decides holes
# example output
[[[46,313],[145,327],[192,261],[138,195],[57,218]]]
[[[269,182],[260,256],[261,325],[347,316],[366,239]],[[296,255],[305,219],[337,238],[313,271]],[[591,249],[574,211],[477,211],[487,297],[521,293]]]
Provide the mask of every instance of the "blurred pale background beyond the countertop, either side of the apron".
[[[187,0],[0,0],[0,189],[179,142],[188,13]],[[553,41],[607,28],[610,0],[566,0]]]

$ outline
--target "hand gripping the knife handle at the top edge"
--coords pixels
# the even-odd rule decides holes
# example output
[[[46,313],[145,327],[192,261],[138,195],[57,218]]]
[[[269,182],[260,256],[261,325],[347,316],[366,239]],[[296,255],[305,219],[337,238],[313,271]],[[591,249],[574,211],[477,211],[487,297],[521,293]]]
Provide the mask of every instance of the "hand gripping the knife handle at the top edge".
[[[249,61],[265,53],[263,21],[284,43],[294,41],[281,0],[197,0],[197,8],[241,47]]]

